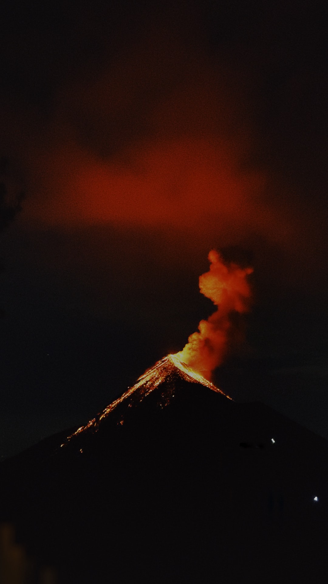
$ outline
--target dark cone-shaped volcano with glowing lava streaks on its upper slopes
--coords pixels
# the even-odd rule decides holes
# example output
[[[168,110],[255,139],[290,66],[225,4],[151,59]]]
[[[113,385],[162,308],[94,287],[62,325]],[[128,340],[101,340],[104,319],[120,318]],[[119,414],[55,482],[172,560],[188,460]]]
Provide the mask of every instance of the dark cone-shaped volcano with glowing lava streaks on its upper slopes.
[[[2,463],[0,517],[59,584],[326,582],[327,455],[169,355]]]

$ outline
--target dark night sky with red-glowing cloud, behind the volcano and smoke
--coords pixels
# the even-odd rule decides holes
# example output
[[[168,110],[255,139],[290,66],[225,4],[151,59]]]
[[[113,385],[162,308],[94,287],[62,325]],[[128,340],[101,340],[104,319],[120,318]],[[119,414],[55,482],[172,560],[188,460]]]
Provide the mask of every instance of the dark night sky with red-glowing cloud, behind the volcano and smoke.
[[[182,349],[211,248],[254,268],[217,384],[328,438],[327,7],[1,11],[0,456]]]

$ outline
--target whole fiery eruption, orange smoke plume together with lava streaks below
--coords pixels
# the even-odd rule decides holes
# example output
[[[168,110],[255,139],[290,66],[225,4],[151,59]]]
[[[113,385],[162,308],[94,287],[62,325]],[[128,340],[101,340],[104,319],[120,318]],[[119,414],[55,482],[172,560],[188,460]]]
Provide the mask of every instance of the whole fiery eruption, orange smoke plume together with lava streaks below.
[[[85,426],[80,426],[74,434],[68,436],[68,441],[86,430],[97,432],[99,425],[108,415],[114,414],[117,423],[122,425],[126,409],[135,408],[154,391],[158,394],[157,405],[160,408],[165,407],[174,398],[177,384],[181,383],[181,380],[204,385],[231,399],[210,382],[210,376],[224,357],[228,332],[232,326],[231,313],[248,310],[251,290],[246,276],[253,270],[250,267],[242,269],[234,263],[225,265],[220,254],[214,250],[210,251],[209,260],[210,271],[200,276],[199,287],[202,294],[217,305],[217,311],[207,321],[200,321],[199,332],[189,336],[189,342],[182,351],[157,361],[121,397],[115,399]],[[66,443],[62,444],[65,445]]]

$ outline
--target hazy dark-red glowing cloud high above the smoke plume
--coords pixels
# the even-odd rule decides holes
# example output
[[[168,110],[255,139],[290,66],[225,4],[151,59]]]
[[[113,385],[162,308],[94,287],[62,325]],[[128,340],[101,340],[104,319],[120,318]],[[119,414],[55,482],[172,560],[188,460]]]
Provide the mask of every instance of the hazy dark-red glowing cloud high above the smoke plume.
[[[279,237],[242,88],[184,49],[148,39],[61,89],[25,154],[29,221]]]

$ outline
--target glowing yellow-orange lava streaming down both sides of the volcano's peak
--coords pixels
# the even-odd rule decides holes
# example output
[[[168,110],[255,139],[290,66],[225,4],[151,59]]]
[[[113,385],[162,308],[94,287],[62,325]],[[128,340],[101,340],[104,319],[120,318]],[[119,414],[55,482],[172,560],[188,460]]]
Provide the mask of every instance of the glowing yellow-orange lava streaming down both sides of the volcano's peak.
[[[115,399],[115,401],[108,405],[101,414],[96,416],[96,418],[90,420],[85,426],[80,426],[74,434],[68,436],[68,440],[89,428],[97,431],[99,423],[104,418],[107,418],[107,416],[123,402],[127,402],[128,407],[136,406],[142,402],[151,391],[155,390],[158,385],[167,383],[169,387],[174,387],[174,379],[177,379],[177,377],[188,381],[189,383],[202,384],[210,390],[216,391],[217,393],[224,395],[226,398],[231,399],[228,395],[224,394],[223,391],[219,390],[216,385],[205,379],[199,373],[196,373],[196,371],[193,371],[191,367],[186,365],[186,363],[180,361],[177,354],[170,354],[167,355],[167,357],[164,357],[164,359],[157,361],[153,367],[145,371],[145,373],[139,377],[135,385],[129,387],[121,397]],[[172,398],[174,398],[174,390],[167,391],[167,396],[164,399],[165,405],[170,403]],[[161,407],[163,407],[163,405],[161,405]],[[120,423],[123,422],[121,421]],[[66,443],[61,446],[65,446],[65,444]]]

